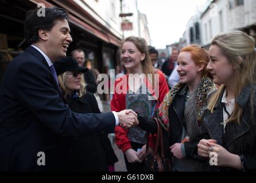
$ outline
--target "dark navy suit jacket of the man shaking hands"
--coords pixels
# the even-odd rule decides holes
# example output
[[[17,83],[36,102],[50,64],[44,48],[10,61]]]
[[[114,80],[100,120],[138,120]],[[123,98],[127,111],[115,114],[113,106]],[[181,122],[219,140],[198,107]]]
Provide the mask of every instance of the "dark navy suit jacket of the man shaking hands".
[[[69,110],[48,63],[34,47],[7,67],[0,89],[0,171],[53,170],[61,136],[113,133],[114,128],[111,112]],[[45,153],[45,166],[37,165],[38,152]]]

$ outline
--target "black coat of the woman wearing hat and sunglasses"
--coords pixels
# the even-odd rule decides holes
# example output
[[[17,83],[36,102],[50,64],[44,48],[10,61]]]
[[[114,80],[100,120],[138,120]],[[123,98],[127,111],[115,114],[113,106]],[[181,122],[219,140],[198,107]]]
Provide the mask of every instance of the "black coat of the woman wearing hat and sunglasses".
[[[76,100],[67,100],[76,113],[100,113],[94,94],[86,94]],[[118,161],[107,133],[102,131],[88,136],[64,137],[60,143],[59,170],[108,171],[108,165]],[[66,161],[63,161],[63,160]]]

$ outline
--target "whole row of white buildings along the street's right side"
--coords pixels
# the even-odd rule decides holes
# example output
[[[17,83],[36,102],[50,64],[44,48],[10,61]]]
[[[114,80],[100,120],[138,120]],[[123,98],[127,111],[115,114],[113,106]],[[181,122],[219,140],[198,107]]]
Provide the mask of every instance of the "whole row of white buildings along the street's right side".
[[[210,46],[215,35],[242,30],[256,38],[255,0],[208,0],[204,9],[189,19],[180,46]]]

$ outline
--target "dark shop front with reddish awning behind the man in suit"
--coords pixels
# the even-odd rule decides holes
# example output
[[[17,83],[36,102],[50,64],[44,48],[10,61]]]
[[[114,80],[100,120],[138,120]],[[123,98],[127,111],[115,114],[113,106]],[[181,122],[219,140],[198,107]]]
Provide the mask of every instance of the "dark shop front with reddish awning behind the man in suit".
[[[100,73],[103,73],[104,66],[114,69],[119,63],[117,51],[120,38],[75,2],[0,0],[0,81],[11,59],[28,47],[24,41],[23,31],[25,15],[28,10],[36,8],[38,3],[44,3],[45,7],[63,7],[69,12],[68,21],[73,42],[69,46],[67,55],[70,55],[74,49],[84,50],[86,59],[90,60]]]

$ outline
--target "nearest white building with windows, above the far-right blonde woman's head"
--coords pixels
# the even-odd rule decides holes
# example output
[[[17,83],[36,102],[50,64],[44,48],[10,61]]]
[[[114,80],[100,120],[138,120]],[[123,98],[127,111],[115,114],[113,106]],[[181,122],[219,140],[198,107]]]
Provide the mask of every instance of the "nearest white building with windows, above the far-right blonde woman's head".
[[[230,30],[242,30],[256,37],[255,0],[214,0],[201,14],[203,46]]]

